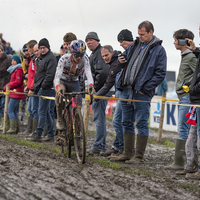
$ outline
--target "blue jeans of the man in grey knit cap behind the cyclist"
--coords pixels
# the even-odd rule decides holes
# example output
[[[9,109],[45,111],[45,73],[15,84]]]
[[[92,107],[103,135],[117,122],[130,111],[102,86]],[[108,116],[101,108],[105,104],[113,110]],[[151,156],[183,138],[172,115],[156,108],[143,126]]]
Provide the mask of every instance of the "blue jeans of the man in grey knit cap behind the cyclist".
[[[113,92],[108,92],[105,96],[109,97]],[[96,139],[93,143],[94,148],[105,151],[106,150],[106,106],[108,100],[100,99],[92,103],[93,120],[96,125]]]

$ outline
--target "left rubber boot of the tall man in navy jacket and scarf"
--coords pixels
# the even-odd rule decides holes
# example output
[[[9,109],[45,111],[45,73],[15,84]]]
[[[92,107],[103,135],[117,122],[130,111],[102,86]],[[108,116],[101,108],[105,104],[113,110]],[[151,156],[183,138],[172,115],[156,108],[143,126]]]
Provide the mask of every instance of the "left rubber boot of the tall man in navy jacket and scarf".
[[[124,133],[124,151],[121,156],[111,158],[111,162],[126,161],[133,157],[133,149],[135,144],[135,133]]]

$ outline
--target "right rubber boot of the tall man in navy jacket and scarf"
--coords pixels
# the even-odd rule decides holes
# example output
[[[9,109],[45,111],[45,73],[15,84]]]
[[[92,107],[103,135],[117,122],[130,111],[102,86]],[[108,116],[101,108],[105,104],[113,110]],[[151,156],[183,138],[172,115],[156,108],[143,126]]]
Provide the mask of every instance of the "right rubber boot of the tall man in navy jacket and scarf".
[[[138,162],[143,162],[147,141],[148,141],[148,136],[137,135],[135,156],[131,160],[127,160],[125,163],[134,164]]]

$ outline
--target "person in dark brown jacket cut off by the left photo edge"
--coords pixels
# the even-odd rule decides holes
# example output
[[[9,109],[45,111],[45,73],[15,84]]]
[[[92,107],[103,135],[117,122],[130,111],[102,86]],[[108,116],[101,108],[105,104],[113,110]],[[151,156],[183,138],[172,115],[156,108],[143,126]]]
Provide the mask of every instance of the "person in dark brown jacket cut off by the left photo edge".
[[[10,59],[7,58],[3,46],[0,45],[0,91],[3,91],[3,87],[10,81],[10,73],[7,71],[10,65],[11,61]],[[0,117],[1,117],[0,130],[3,130],[4,104],[5,104],[5,95],[0,94]]]

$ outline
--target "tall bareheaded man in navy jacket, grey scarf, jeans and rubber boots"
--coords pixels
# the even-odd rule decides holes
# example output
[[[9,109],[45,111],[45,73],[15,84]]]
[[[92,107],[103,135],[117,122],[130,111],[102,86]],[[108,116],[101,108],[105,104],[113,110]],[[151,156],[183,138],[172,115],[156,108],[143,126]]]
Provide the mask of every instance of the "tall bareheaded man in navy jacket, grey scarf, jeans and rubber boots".
[[[129,54],[126,50],[119,56],[119,62],[124,67],[121,83],[122,98],[146,102],[127,103],[122,101],[124,152],[111,161],[126,161],[126,163],[141,162],[149,136],[148,119],[150,101],[155,88],[164,80],[167,58],[162,41],[153,35],[154,27],[149,21],[138,26],[138,35]],[[133,119],[137,121],[136,152],[133,157],[135,133],[132,129]]]

